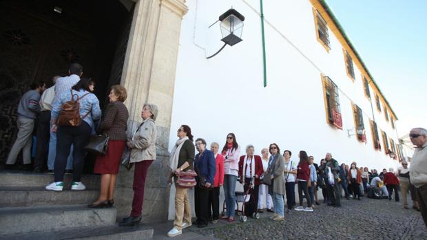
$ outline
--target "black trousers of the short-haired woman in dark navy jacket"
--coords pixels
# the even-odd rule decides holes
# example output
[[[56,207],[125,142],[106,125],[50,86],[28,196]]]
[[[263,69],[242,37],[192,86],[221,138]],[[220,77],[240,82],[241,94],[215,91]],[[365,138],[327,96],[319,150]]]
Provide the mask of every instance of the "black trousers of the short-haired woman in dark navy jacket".
[[[194,210],[196,211],[197,224],[207,225],[209,220],[209,192],[206,188],[194,188]]]

